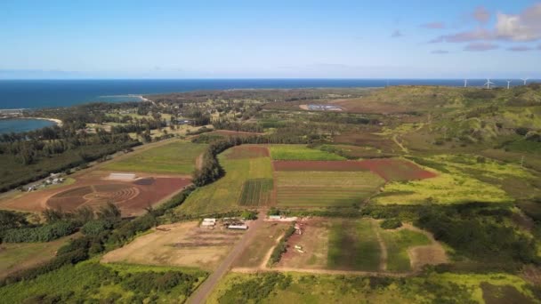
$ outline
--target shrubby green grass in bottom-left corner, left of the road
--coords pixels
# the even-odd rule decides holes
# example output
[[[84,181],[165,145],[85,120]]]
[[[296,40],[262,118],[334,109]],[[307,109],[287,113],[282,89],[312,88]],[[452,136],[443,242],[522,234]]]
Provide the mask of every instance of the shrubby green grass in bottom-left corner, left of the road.
[[[186,300],[183,284],[171,288],[169,292],[152,291],[149,294],[136,294],[127,289],[123,280],[137,272],[182,271],[198,277],[198,282],[188,288],[193,292],[206,277],[206,273],[184,272],[182,268],[141,267],[141,266],[109,266],[101,265],[96,259],[87,260],[75,266],[65,266],[49,272],[36,279],[10,284],[0,288],[0,299],[6,303],[43,302],[46,297],[54,302],[136,302],[156,298],[163,302],[182,302]],[[117,272],[117,273],[116,273]],[[30,300],[31,299],[31,300]]]

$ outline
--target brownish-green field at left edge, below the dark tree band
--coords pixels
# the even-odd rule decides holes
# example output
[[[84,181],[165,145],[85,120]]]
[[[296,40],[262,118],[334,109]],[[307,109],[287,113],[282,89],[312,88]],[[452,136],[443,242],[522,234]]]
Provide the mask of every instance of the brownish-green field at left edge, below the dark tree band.
[[[61,237],[47,243],[0,244],[0,279],[51,260],[56,251],[74,237],[77,235]]]

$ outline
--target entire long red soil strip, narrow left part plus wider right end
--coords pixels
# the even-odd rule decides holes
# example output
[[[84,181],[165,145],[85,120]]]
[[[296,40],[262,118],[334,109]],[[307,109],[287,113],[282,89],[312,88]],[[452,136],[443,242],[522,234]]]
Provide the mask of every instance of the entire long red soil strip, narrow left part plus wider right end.
[[[275,171],[371,171],[386,181],[423,180],[435,177],[418,165],[402,159],[377,158],[362,161],[274,161]]]

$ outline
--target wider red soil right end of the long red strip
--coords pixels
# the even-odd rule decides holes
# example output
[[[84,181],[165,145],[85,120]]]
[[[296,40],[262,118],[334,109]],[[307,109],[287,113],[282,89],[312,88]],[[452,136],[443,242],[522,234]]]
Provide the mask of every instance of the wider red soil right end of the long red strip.
[[[359,162],[367,170],[375,172],[384,180],[424,180],[436,177],[434,172],[426,171],[418,165],[403,159],[378,158]]]

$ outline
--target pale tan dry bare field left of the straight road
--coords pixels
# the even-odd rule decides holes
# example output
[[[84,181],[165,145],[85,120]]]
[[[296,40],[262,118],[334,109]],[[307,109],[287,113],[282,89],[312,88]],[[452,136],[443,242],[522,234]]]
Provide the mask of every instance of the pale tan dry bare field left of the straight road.
[[[222,228],[199,228],[197,221],[163,225],[108,252],[101,262],[213,270],[242,235]]]

